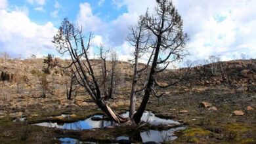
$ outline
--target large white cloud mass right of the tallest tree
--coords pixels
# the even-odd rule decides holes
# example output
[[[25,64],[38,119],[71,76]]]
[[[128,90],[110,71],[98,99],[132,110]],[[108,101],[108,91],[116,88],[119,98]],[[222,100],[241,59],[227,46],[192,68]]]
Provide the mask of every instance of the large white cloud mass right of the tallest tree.
[[[184,20],[184,31],[190,35],[190,59],[220,55],[231,60],[241,53],[256,57],[256,1],[175,0],[175,6]]]

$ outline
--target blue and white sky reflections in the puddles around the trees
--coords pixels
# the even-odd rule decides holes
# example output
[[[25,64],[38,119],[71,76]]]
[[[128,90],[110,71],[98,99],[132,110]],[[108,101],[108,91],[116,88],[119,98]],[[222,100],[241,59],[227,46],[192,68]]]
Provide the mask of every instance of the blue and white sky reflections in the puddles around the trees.
[[[121,116],[123,117],[129,117],[129,112],[123,113]],[[62,115],[62,117],[68,117],[67,115]],[[93,117],[102,118],[102,115],[95,115]],[[179,122],[173,121],[173,120],[167,120],[164,118],[158,118],[153,113],[145,111],[141,118],[144,122],[150,122],[152,125],[159,125],[159,124],[179,124]],[[52,122],[43,122],[40,124],[36,124],[39,126],[49,126],[51,128],[62,128],[66,130],[87,130],[91,128],[104,128],[106,126],[111,126],[115,124],[115,122],[112,122],[110,120],[92,120],[92,117],[87,118],[86,120],[80,120],[78,122],[73,122],[70,124],[58,124],[58,123],[52,123]],[[148,130],[145,132],[139,132],[138,135],[140,139],[137,139],[137,141],[141,141],[142,143],[154,141],[156,143],[162,143],[164,141],[173,141],[174,139],[177,139],[177,136],[174,135],[174,132],[177,130],[184,130],[185,127],[181,126],[178,128],[171,128],[169,130]],[[131,138],[131,139],[130,139]],[[128,137],[125,135],[121,135],[116,138],[116,141],[119,142],[129,142],[129,140],[136,140],[135,137]],[[60,138],[59,139],[61,143],[82,143],[81,141],[78,141],[77,139],[73,139],[70,137]],[[90,142],[83,142],[83,143],[90,143]]]

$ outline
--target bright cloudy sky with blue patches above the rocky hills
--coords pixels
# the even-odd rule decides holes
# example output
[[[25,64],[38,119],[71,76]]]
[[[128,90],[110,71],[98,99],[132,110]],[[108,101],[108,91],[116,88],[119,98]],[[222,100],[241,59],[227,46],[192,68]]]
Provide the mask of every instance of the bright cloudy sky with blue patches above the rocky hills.
[[[222,60],[256,57],[255,0],[173,0],[188,33],[190,60],[220,55]],[[63,18],[93,31],[93,46],[116,48],[127,60],[133,48],[125,41],[128,26],[156,0],[0,0],[0,52],[23,58],[58,55],[54,33]],[[95,50],[96,51],[96,50]]]

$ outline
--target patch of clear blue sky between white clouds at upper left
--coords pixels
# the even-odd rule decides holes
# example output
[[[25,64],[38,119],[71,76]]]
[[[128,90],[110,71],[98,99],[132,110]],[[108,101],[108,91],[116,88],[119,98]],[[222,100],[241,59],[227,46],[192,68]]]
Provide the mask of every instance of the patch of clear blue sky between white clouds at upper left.
[[[45,2],[42,2],[43,4],[36,1],[9,0],[9,5],[11,9],[15,9],[15,7],[26,7],[29,10],[28,16],[37,24],[45,24],[51,21],[57,27],[63,18],[68,17],[70,20],[75,21],[79,12],[79,4],[85,2],[90,4],[93,13],[104,20],[104,22],[115,20],[117,16],[123,12],[127,12],[126,7],[115,7],[111,0],[105,0],[102,4],[100,1],[95,0],[45,0]],[[58,10],[56,16],[51,14],[54,10]]]

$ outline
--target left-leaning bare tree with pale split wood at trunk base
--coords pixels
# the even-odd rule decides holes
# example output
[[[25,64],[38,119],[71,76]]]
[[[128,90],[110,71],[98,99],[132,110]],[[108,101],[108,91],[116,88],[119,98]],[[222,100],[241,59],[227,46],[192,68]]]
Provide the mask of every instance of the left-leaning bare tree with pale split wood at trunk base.
[[[53,38],[53,43],[61,54],[70,55],[72,62],[67,67],[72,69],[75,79],[87,90],[96,105],[115,122],[125,122],[127,118],[117,115],[102,99],[98,79],[96,79],[93,70],[93,63],[89,59],[91,39],[93,39],[92,33],[85,37],[82,27],[76,28],[65,18],[58,29],[58,33]]]

